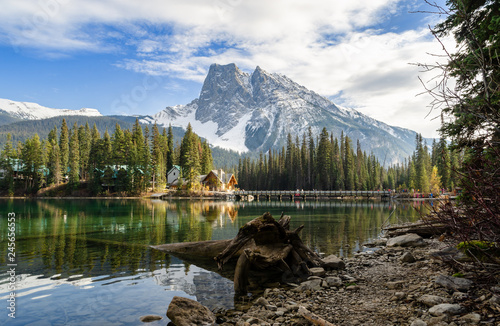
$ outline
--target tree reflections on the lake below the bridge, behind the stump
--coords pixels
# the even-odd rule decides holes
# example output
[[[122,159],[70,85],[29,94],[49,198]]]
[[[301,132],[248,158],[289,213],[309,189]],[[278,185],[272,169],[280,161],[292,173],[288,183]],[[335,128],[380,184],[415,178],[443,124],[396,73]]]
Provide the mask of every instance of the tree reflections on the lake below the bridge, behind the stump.
[[[246,221],[242,218],[243,208],[255,214],[262,212],[262,209],[284,211],[292,216],[292,228],[305,225],[301,238],[306,245],[318,252],[343,256],[354,254],[364,242],[379,236],[384,222],[415,221],[419,217],[413,205],[404,202],[268,201],[240,202],[238,205],[240,223]],[[386,221],[394,209],[396,211]]]

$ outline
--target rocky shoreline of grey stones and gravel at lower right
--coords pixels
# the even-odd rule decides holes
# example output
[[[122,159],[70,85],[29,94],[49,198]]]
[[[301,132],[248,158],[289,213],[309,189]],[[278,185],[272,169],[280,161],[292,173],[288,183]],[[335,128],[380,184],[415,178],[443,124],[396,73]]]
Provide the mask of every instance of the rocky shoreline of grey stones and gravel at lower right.
[[[268,288],[247,310],[215,312],[207,325],[500,325],[500,285],[455,277],[444,243],[412,234],[373,245],[344,269]]]

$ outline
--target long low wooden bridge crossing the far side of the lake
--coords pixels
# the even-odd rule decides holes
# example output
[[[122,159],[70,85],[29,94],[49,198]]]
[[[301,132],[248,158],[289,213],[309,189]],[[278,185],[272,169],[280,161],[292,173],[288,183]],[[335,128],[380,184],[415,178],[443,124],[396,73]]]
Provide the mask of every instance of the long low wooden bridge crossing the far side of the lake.
[[[276,198],[282,200],[289,198],[290,200],[306,200],[320,198],[381,198],[389,199],[391,192],[386,190],[377,191],[347,191],[347,190],[241,190],[235,191],[234,195],[238,200],[259,200],[260,198],[271,199]]]

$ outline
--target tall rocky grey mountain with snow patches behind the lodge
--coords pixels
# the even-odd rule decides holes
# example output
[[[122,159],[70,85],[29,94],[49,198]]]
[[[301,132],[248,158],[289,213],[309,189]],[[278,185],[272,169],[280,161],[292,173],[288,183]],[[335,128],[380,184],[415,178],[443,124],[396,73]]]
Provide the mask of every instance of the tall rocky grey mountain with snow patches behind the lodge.
[[[414,131],[389,126],[356,110],[342,108],[290,78],[257,67],[251,74],[235,64],[213,64],[200,96],[186,105],[167,107],[144,123],[193,130],[210,144],[239,152],[266,152],[286,144],[290,133],[302,137],[325,127],[342,131],[356,146],[373,152],[382,163],[401,162],[415,149]]]

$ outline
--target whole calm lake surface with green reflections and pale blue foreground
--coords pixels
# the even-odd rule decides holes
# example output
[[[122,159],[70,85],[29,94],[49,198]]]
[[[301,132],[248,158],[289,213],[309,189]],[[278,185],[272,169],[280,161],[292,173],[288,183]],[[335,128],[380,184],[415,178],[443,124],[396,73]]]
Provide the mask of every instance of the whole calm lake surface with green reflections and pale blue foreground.
[[[166,325],[175,295],[231,308],[231,280],[149,246],[230,239],[268,211],[276,219],[290,215],[291,229],[304,224],[301,238],[313,250],[349,257],[365,250],[383,224],[418,219],[416,207],[366,200],[0,199],[0,324],[139,325],[140,316],[156,314],[164,319],[148,325]],[[13,302],[15,319],[7,309]]]

